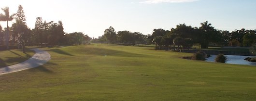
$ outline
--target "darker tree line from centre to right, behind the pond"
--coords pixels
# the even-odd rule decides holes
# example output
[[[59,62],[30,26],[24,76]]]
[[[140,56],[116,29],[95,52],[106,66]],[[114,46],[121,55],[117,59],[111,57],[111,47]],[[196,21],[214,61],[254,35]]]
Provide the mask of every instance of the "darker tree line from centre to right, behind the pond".
[[[110,26],[104,35],[94,39],[95,42],[121,43],[124,45],[155,44],[156,50],[189,49],[193,45],[200,45],[202,49],[209,46],[240,46],[249,47],[256,43],[256,30],[217,30],[208,21],[200,27],[179,24],[171,30],[154,29],[151,35],[142,35],[140,32],[118,31]],[[177,48],[176,48],[177,47]]]

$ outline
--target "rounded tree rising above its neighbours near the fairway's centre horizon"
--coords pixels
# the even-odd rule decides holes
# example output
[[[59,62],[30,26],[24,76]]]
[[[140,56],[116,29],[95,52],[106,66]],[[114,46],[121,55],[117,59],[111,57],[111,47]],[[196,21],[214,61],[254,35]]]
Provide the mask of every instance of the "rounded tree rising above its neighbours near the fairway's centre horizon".
[[[110,43],[115,43],[117,40],[116,32],[112,26],[110,26],[108,29],[104,31],[104,36],[106,40]]]

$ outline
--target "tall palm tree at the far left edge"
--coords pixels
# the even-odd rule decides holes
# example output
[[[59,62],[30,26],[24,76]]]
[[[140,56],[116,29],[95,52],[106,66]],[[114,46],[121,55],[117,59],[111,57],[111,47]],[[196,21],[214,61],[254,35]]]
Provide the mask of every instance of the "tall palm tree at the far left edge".
[[[14,15],[15,14],[12,14],[10,15],[9,14],[9,7],[5,7],[5,8],[2,8],[3,13],[0,14],[0,21],[6,21],[7,22],[7,30],[6,30],[6,33],[5,33],[5,44],[6,44],[6,49],[9,50],[9,26],[8,26],[8,22],[9,21],[12,21],[14,19]]]

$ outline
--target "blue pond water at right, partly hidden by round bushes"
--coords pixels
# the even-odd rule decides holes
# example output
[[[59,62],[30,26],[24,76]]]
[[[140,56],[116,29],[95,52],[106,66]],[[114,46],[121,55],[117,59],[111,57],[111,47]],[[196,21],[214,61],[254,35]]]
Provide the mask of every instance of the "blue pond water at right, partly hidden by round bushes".
[[[205,61],[207,62],[215,62],[215,58],[217,55],[211,55],[211,57],[206,58]],[[256,62],[247,62],[246,60],[243,60],[247,57],[255,58],[255,56],[241,56],[241,55],[225,55],[227,56],[228,60],[227,63],[229,64],[243,64],[243,65],[253,65],[256,66]]]

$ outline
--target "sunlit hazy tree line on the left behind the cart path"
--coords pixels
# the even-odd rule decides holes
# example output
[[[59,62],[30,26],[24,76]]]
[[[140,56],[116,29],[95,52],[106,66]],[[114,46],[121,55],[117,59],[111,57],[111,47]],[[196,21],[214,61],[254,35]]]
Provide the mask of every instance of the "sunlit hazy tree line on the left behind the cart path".
[[[91,39],[82,32],[65,33],[61,21],[46,22],[42,17],[37,17],[35,27],[30,29],[21,5],[14,14],[9,13],[9,7],[2,8],[2,11],[4,13],[0,13],[0,21],[6,21],[7,27],[2,30],[0,26],[0,46],[5,44],[6,50],[9,50],[9,44],[16,45],[25,52],[25,46],[81,45]],[[9,21],[14,19],[15,22],[9,28]]]

